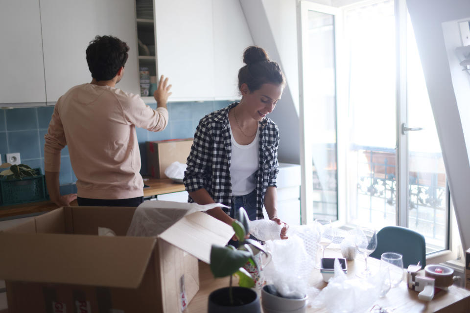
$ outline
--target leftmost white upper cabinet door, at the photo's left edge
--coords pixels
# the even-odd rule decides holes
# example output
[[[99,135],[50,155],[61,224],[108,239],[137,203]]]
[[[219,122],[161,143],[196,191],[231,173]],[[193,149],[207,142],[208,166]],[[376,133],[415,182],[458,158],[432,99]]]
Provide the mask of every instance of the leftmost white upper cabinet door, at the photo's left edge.
[[[37,0],[0,2],[0,103],[46,102]]]

